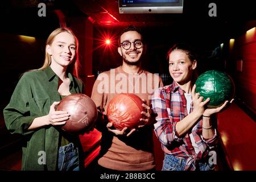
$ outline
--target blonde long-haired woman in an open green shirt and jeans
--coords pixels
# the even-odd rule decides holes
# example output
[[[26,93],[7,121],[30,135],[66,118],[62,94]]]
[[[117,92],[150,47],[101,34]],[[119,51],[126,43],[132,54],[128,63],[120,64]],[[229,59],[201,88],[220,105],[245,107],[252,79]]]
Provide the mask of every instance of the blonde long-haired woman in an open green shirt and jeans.
[[[78,41],[68,28],[57,28],[46,42],[42,68],[23,74],[3,110],[7,129],[23,135],[22,170],[79,170],[80,140],[60,130],[69,118],[56,111],[61,98],[82,92],[72,75]]]

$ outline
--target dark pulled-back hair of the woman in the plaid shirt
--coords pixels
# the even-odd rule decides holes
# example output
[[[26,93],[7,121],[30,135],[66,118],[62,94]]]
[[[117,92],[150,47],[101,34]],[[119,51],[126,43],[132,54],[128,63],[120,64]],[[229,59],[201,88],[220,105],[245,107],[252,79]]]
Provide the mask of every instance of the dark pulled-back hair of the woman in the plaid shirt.
[[[169,51],[167,52],[167,56],[166,56],[167,61],[169,61],[170,54],[174,50],[180,50],[180,51],[185,52],[188,55],[188,57],[191,61],[197,60],[197,58],[198,58],[197,53],[196,53],[196,49],[191,44],[189,44],[189,43],[177,43],[174,46],[172,46],[169,49]]]

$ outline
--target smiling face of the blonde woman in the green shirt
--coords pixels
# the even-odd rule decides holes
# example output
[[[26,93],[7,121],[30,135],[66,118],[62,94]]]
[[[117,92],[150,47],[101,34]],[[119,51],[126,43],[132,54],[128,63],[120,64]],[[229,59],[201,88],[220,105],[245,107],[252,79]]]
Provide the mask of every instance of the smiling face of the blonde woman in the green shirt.
[[[76,56],[76,40],[68,32],[61,32],[46,46],[46,51],[51,55],[51,64],[67,67]]]

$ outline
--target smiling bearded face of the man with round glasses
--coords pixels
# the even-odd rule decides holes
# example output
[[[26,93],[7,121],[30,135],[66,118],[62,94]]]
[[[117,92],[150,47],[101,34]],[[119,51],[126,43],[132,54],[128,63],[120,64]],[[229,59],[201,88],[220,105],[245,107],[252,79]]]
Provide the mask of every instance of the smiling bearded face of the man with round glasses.
[[[118,47],[118,52],[122,56],[123,61],[129,65],[138,65],[141,63],[141,56],[143,52],[143,46],[141,48],[136,48],[134,42],[142,41],[141,34],[137,31],[127,31],[123,33],[120,37],[120,43],[129,41],[131,47],[129,49],[124,49],[122,46]]]

